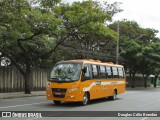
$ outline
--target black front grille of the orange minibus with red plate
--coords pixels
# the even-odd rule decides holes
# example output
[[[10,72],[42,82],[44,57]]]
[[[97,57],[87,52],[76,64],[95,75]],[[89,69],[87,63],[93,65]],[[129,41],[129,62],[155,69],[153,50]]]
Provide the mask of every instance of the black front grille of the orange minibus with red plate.
[[[64,98],[66,91],[67,89],[53,88],[52,89],[53,97]]]

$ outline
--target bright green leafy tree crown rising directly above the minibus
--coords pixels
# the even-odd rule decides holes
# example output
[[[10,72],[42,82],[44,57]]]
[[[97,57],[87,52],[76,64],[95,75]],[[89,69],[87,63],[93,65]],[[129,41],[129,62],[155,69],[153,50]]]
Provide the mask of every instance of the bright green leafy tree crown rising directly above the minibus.
[[[108,44],[116,39],[116,32],[105,25],[106,21],[111,20],[111,16],[97,2],[63,4],[59,14],[58,17],[64,20],[63,27],[70,35],[63,43],[63,48],[74,48],[74,53],[77,51],[78,58],[88,58],[86,52],[81,50],[88,51],[88,53],[89,51],[100,51],[101,46],[108,47]],[[70,53],[73,52],[69,51]]]

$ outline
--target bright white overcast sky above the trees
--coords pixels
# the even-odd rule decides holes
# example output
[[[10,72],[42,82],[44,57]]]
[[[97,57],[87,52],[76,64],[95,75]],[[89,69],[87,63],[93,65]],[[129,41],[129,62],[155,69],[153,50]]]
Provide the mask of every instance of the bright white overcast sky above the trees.
[[[62,0],[65,3],[83,0]],[[104,0],[97,0],[104,1]],[[122,2],[119,6],[123,9],[113,17],[114,20],[134,20],[143,28],[153,28],[158,30],[157,37],[160,37],[160,2],[159,0],[106,0],[109,4]]]

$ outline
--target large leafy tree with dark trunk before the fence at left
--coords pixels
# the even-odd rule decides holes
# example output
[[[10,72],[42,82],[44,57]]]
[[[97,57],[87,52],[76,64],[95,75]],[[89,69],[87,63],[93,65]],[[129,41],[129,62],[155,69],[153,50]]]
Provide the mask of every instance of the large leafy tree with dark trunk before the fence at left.
[[[1,1],[0,6],[0,52],[21,72],[25,93],[30,94],[31,68],[46,60],[62,42],[62,20],[45,6],[33,7],[26,0]]]

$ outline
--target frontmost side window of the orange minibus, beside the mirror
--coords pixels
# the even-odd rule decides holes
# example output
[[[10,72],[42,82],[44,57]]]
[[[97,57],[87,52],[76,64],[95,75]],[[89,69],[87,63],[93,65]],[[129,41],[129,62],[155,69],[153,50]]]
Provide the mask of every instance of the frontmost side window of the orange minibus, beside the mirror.
[[[84,65],[85,73],[83,73],[83,78],[82,80],[90,80],[91,79],[91,73],[90,73],[90,65],[89,64],[85,64]]]

